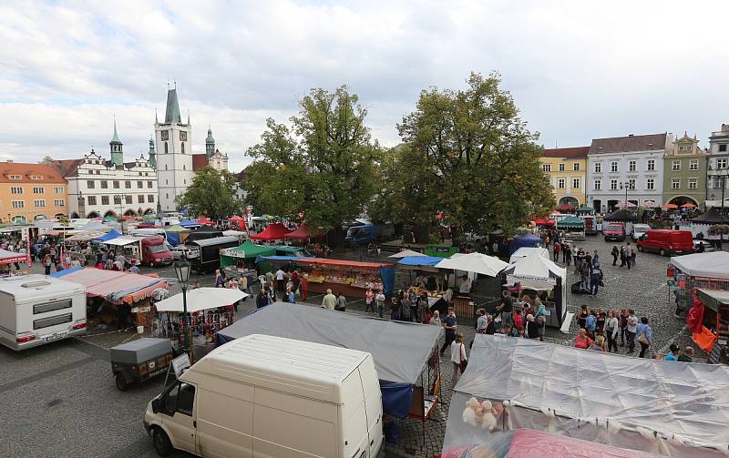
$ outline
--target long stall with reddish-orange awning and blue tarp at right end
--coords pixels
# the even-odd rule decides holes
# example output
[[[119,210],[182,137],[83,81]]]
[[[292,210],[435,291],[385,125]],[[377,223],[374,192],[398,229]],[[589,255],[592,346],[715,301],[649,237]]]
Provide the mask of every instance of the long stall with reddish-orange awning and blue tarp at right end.
[[[364,298],[367,288],[384,290],[389,296],[395,288],[395,266],[379,262],[356,262],[326,258],[304,258],[296,265],[309,274],[309,291],[342,292],[347,298]]]

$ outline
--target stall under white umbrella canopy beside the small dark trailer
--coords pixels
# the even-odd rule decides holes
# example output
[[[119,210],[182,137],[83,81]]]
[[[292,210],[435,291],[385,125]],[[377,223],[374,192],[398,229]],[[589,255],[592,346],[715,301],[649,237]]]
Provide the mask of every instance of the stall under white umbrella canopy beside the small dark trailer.
[[[187,310],[190,316],[190,341],[215,341],[218,331],[235,320],[233,304],[248,297],[241,290],[230,288],[198,288],[187,292]],[[178,344],[184,342],[184,302],[182,293],[160,300],[155,304],[157,317],[152,335],[167,337]]]

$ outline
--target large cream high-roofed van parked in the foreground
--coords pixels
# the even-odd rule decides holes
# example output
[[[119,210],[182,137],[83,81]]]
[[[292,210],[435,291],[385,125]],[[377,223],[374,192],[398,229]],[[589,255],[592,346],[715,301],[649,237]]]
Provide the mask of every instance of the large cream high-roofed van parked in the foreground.
[[[368,458],[383,443],[372,355],[253,334],[228,342],[149,402],[155,449],[216,458]]]

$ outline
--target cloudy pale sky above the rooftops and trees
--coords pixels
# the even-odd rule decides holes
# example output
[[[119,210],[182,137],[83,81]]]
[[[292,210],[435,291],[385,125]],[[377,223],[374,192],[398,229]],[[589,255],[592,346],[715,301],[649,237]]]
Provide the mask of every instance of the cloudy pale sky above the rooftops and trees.
[[[425,87],[498,71],[547,148],[729,122],[729,2],[0,1],[0,160],[146,153],[176,80],[193,150],[240,170],[266,117],[346,84],[373,135]]]

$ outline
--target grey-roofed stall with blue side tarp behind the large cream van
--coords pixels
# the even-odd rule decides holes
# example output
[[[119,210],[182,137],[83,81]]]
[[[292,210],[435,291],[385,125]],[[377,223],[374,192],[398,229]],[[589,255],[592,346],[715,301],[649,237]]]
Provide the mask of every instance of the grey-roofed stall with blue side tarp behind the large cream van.
[[[428,324],[275,302],[218,332],[217,343],[265,334],[366,351],[375,360],[385,415],[426,422],[439,402],[441,332]],[[423,434],[425,440],[425,424]]]

